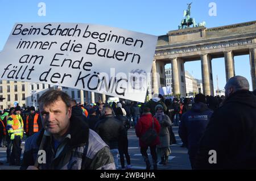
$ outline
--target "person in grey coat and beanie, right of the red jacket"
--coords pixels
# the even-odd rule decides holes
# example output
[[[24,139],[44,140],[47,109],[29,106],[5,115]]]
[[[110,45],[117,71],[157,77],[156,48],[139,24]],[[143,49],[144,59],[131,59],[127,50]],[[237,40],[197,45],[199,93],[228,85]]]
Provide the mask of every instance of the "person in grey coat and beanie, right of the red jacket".
[[[170,149],[170,132],[168,127],[172,125],[172,121],[169,116],[167,116],[163,111],[163,106],[158,104],[155,107],[155,116],[154,116],[161,126],[159,138],[160,145],[156,145],[156,153],[161,158],[159,165],[167,165],[168,156],[171,153]]]

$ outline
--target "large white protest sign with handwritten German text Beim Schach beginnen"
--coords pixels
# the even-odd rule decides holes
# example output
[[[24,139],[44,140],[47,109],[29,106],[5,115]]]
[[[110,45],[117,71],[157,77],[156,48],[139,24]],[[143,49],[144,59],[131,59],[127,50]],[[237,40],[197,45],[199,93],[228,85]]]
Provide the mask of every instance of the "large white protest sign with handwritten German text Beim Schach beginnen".
[[[94,24],[16,23],[0,54],[0,79],[144,102],[157,38]]]

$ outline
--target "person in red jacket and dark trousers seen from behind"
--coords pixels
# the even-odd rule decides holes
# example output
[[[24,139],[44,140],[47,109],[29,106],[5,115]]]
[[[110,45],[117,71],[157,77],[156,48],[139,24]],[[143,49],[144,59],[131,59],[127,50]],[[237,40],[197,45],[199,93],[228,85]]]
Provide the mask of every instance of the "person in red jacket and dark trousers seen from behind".
[[[153,121],[154,121],[154,129],[155,129],[156,133],[159,134],[160,124],[159,124],[158,120],[151,115],[150,108],[144,107],[143,114],[139,118],[139,121],[135,127],[136,136],[139,137],[139,146],[141,146],[141,154],[142,154],[142,157],[144,158],[144,161],[146,162],[146,170],[150,170],[150,167],[151,167],[151,164],[150,164],[150,161],[149,161],[148,155],[147,155],[148,147],[150,148],[150,154],[152,156],[154,170],[156,170],[158,168],[158,166],[157,166],[158,157],[156,154],[156,145],[160,144],[159,136],[157,136],[155,138],[155,140],[152,142],[151,145],[146,145],[141,140],[141,136],[145,132],[147,132],[148,129],[152,128]]]

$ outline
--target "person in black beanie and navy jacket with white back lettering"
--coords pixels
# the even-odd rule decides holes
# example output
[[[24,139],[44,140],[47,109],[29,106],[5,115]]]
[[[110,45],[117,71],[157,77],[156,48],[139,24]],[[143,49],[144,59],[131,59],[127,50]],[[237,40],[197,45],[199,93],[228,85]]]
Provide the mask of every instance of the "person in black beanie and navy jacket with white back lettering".
[[[191,110],[184,113],[180,120],[179,136],[188,149],[192,169],[196,167],[199,142],[213,113],[205,103],[205,95],[197,94],[195,104],[192,105]]]

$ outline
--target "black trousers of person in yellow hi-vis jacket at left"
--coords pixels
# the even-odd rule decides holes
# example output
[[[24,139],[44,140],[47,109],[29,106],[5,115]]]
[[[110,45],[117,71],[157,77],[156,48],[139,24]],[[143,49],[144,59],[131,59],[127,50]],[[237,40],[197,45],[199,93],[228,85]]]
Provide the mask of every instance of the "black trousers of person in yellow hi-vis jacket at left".
[[[20,136],[15,136],[14,140],[11,140],[13,142],[13,150],[11,151],[11,157],[10,157],[10,165],[20,165],[20,155],[21,155],[21,140]]]

